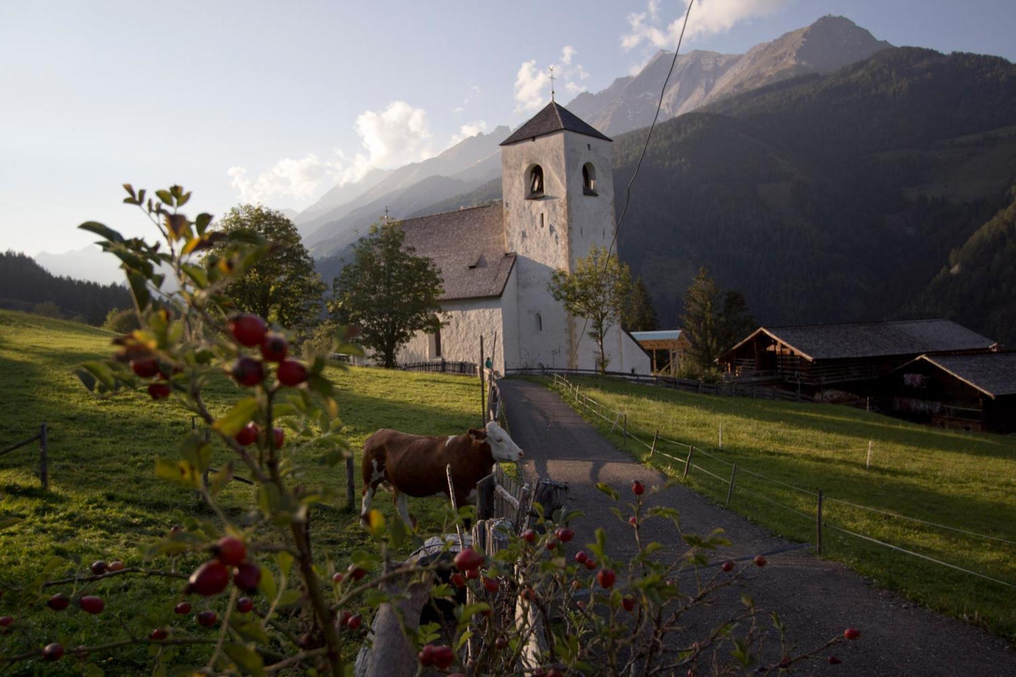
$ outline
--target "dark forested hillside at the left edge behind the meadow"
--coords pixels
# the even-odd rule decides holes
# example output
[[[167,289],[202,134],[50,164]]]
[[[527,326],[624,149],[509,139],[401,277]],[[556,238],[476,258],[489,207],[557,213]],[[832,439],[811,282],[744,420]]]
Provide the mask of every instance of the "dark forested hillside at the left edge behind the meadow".
[[[0,308],[33,312],[40,304],[55,304],[66,319],[102,324],[113,308],[130,308],[125,287],[57,278],[25,254],[0,253]],[[53,306],[47,306],[53,309]]]

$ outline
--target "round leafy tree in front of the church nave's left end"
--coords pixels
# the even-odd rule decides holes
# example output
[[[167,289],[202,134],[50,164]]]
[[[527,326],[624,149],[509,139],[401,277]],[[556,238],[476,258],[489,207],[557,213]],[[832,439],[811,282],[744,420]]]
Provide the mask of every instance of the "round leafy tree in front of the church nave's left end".
[[[340,323],[357,326],[361,343],[392,368],[412,334],[440,327],[441,271],[405,246],[398,223],[375,224],[353,250],[353,261],[332,284],[328,310]]]

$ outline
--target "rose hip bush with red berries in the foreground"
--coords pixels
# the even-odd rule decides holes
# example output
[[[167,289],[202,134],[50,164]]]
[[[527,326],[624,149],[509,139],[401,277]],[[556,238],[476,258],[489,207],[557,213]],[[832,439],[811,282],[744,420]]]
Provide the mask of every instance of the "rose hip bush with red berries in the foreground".
[[[425,622],[402,618],[398,635],[403,649],[407,641],[417,653],[409,674],[790,671],[860,636],[847,628],[815,651],[795,652],[779,617],[763,621],[747,595],[714,628],[689,636],[689,611],[761,574],[766,561],[710,562],[709,555],[727,545],[722,535],[682,532],[676,511],[646,506],[658,488],[638,482],[628,499],[600,487],[604,500],[618,503],[618,518],[630,525],[634,555],[624,560],[611,557],[602,530],[592,543],[574,542],[568,522],[578,513],[545,514],[539,504],[531,529],[508,535],[493,556],[471,548],[452,553],[449,542],[427,557],[405,559],[410,546],[422,545],[421,536],[399,519],[386,524],[376,510],[363,519],[376,546],[371,551],[315,550],[311,509],[333,488],[317,486],[308,458],[334,464],[347,453],[332,384],[322,376],[324,357],[294,359],[284,327],[238,311],[229,296],[231,281],[271,243],[253,233],[216,231],[207,213],[191,221],[181,211],[190,193],[179,186],[147,200],[144,190],[125,188],[124,201],[149,218],[157,241],[125,238],[93,222],[81,228],[102,237],[103,248],[120,259],[141,328],[118,336],[111,359],[85,363],[78,376],[100,396],[150,398],[153,407],[190,412],[232,457],[212,469],[213,445],[193,430],[174,457],[154,459],[157,477],[197,492],[214,518],[174,527],[147,547],[143,566],[71,563],[71,573],[59,577],[68,563],[53,560],[35,580],[5,586],[0,671],[63,666],[101,675],[111,653],[147,645],[149,665],[138,674],[337,677],[350,674],[356,652],[374,641],[368,628],[379,609],[417,583],[428,591]],[[173,285],[166,284],[170,274]],[[325,352],[357,353],[353,335],[339,328]],[[202,393],[221,379],[233,380],[237,394],[216,417]],[[247,511],[231,519],[217,498],[238,468],[253,489]],[[449,513],[445,531],[470,516],[469,506]],[[675,538],[688,546],[680,561],[665,561],[660,544],[643,542],[642,526],[650,519],[671,522]],[[336,570],[338,558],[352,563]],[[145,613],[118,616],[119,636],[79,645],[52,636],[46,623],[19,626],[19,618],[40,613],[109,614],[116,604],[108,599],[116,595],[113,583],[123,576],[151,581],[152,599]],[[384,665],[386,658],[375,660]],[[840,662],[833,655],[822,660]]]

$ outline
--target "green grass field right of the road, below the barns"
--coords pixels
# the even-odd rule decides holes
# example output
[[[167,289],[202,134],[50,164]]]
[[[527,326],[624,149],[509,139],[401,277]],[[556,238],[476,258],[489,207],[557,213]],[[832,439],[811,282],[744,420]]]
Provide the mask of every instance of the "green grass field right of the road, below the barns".
[[[1016,589],[828,528],[835,525],[1016,586],[1016,545],[829,500],[847,500],[1016,542],[1016,438],[938,430],[847,407],[700,395],[616,380],[572,380],[593,399],[626,412],[628,430],[647,443],[658,429],[662,437],[737,463],[741,470],[731,509],[782,536],[814,542],[816,498],[742,471],[812,491],[821,488],[826,499],[824,555],[929,608],[1016,639]],[[625,445],[620,427],[610,434],[610,423],[575,405],[566,390],[560,391],[615,444],[648,460],[645,446],[632,440]],[[869,440],[870,470],[866,469]],[[680,477],[686,447],[660,442],[657,448],[681,460],[657,454],[651,463]],[[705,454],[694,455],[694,463],[722,478],[731,475],[729,466]],[[704,473],[693,471],[687,483],[718,502],[726,498],[728,485]]]

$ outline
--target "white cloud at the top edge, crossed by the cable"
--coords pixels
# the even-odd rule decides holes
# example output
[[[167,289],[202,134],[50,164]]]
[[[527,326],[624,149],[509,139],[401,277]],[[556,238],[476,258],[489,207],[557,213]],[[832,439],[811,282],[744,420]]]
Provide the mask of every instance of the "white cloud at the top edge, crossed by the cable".
[[[678,17],[665,26],[660,25],[658,0],[649,0],[646,11],[628,15],[629,32],[621,37],[621,46],[630,50],[645,43],[658,49],[673,50],[678,44],[681,26],[685,21],[688,3],[680,3]],[[688,19],[686,40],[714,36],[729,30],[745,19],[765,16],[786,7],[793,0],[699,0]]]

